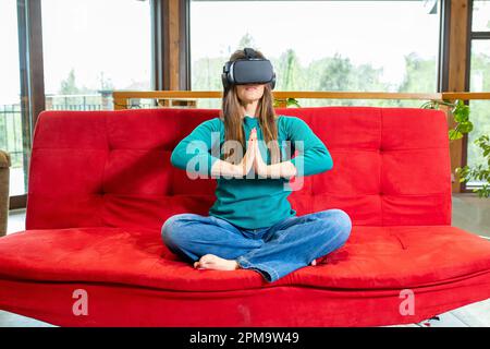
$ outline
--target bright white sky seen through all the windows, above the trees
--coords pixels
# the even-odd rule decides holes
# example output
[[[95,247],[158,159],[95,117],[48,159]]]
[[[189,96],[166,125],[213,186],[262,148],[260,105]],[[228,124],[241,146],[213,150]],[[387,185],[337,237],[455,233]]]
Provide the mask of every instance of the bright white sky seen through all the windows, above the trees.
[[[0,0],[0,105],[19,103],[15,3]],[[354,64],[383,67],[384,81],[400,81],[404,55],[415,51],[425,59],[438,55],[439,15],[428,14],[424,3],[193,1],[192,60],[226,57],[249,33],[268,58],[292,48],[306,65],[339,52]],[[91,88],[100,85],[101,71],[115,88],[150,75],[148,1],[41,0],[41,5],[47,94],[57,93],[72,68],[78,85]],[[490,5],[485,9],[490,14]]]

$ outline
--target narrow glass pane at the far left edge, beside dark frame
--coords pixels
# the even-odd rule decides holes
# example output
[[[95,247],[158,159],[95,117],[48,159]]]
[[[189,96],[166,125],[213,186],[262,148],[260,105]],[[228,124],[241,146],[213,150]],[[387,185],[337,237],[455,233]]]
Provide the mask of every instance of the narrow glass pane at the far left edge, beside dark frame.
[[[16,5],[0,1],[0,148],[11,157],[11,196],[25,194]]]

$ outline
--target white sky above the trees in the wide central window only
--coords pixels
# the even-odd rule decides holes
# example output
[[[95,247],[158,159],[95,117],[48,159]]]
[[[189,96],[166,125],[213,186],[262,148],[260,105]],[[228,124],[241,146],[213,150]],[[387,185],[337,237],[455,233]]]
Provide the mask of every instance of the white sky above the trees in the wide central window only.
[[[207,52],[228,56],[229,45],[236,45],[243,33],[256,39],[266,57],[279,57],[292,48],[301,64],[307,65],[311,60],[339,52],[355,64],[371,62],[384,67],[388,80],[401,79],[405,67],[403,55],[416,51],[425,58],[437,57],[438,15],[427,14],[422,1],[301,1],[301,4],[238,1],[232,4],[233,11],[224,12],[221,2],[194,2],[193,57],[205,57]],[[235,15],[229,15],[230,12]],[[226,40],[206,39],[210,22],[201,19],[212,16],[220,17],[221,26],[213,26],[212,31]],[[221,33],[224,31],[226,34]]]

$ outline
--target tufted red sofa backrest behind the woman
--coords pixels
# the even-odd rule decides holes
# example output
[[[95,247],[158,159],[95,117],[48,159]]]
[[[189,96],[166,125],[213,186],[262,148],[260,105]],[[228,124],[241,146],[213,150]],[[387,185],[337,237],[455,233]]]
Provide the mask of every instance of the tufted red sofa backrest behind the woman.
[[[218,109],[44,111],[34,131],[26,229],[160,230],[171,215],[207,215],[215,179],[170,164],[175,145]],[[450,225],[444,112],[417,108],[278,108],[305,120],[333,158],[303,178],[297,215],[342,208],[354,225]]]

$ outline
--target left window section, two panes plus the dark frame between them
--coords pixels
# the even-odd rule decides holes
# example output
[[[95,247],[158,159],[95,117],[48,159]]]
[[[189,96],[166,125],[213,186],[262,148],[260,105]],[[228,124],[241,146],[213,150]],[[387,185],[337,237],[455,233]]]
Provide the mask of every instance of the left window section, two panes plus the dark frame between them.
[[[35,41],[42,41],[46,109],[112,109],[112,89],[150,89],[149,0],[39,1],[42,33]],[[29,64],[21,69],[28,48],[20,48],[26,38],[19,38],[20,28],[29,35],[26,16],[38,19],[38,8],[27,14],[17,7],[25,3],[0,0],[0,148],[11,156],[10,196],[25,194],[28,185],[32,140],[23,134],[33,125],[23,123],[21,80],[39,73],[28,71]]]

